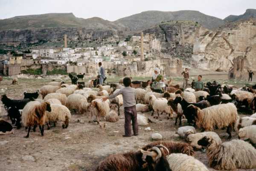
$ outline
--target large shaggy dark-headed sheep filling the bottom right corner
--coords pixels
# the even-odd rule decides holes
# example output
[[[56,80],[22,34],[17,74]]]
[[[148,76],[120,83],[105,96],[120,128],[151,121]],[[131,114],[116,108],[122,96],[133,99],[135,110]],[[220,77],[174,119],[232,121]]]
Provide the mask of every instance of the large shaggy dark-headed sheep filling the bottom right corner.
[[[209,167],[216,170],[236,170],[256,168],[256,149],[243,140],[231,140],[218,144],[210,136],[198,141],[207,147]]]

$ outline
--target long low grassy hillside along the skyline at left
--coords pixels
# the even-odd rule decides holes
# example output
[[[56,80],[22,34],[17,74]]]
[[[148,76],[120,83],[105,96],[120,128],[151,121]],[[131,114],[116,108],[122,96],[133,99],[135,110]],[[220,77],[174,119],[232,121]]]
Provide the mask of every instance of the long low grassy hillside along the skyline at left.
[[[26,15],[0,20],[0,30],[52,27],[121,29],[120,26],[116,26],[113,22],[108,20],[103,20],[99,17],[89,19],[77,18],[73,13]]]

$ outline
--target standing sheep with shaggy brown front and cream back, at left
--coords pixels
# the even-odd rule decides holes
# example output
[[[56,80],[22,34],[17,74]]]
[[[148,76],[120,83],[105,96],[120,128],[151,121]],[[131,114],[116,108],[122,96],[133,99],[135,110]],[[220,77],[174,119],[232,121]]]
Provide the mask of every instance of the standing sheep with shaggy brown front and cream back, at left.
[[[28,134],[24,138],[29,137],[29,132],[31,129],[31,126],[39,125],[41,136],[44,136],[44,124],[46,120],[46,112],[45,111],[51,111],[51,106],[49,103],[39,103],[37,101],[29,102],[26,104],[26,106],[23,108],[22,111],[22,123],[25,127],[28,127]]]

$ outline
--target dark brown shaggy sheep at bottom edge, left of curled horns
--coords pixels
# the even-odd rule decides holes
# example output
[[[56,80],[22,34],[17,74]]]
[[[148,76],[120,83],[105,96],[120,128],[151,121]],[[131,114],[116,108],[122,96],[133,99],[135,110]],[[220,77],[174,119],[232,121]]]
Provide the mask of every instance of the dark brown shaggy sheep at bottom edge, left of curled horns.
[[[144,168],[143,154],[140,151],[130,151],[123,154],[111,154],[99,163],[96,171],[148,171]]]

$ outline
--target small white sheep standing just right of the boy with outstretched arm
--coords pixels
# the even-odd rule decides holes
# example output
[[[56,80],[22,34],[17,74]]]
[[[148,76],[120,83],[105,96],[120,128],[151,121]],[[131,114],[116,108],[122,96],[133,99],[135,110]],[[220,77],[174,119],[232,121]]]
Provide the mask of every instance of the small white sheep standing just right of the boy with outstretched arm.
[[[166,112],[166,114],[169,114],[169,117],[171,116],[172,112],[170,111],[170,107],[167,105],[168,100],[166,100],[165,98],[157,98],[154,95],[150,95],[149,100],[150,100],[150,105],[153,108],[152,116],[154,116],[154,118],[159,117],[159,113],[158,113],[159,111],[162,113]],[[154,112],[156,112],[157,115],[154,115]]]

